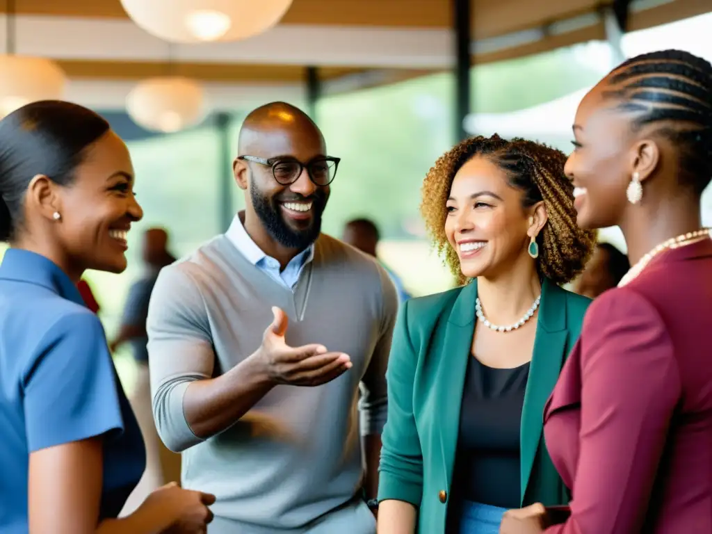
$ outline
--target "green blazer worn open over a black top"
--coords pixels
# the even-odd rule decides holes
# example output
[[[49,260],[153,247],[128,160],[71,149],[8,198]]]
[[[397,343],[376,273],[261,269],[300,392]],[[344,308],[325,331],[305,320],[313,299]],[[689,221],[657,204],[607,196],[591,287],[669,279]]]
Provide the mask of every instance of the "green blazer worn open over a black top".
[[[378,498],[416,506],[422,534],[445,531],[476,298],[473,281],[407,300],[393,335]],[[545,447],[543,410],[590,302],[548,280],[543,283],[521,419],[522,506],[569,501]]]

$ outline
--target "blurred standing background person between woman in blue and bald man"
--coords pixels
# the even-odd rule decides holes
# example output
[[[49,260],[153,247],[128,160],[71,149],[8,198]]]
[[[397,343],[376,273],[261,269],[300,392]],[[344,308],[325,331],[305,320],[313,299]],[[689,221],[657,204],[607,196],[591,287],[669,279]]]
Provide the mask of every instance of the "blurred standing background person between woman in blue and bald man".
[[[169,252],[168,233],[150,228],[143,234],[142,259],[145,272],[132,283],[124,303],[119,332],[110,344],[112,352],[123,344],[130,345],[136,365],[136,379],[130,397],[136,419],[146,444],[146,471],[130,497],[124,513],[138,506],[143,498],[164,483],[180,480],[180,455],[169,451],[159,439],[151,407],[151,382],[148,371],[148,336],[146,320],[148,303],[158,273],[175,261]]]

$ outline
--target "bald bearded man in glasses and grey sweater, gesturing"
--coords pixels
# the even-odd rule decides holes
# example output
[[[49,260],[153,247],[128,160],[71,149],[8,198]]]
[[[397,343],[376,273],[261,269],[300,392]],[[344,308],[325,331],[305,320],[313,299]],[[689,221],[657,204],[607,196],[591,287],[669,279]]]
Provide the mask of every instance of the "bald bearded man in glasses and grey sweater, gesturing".
[[[254,110],[234,160],[245,211],[156,283],[154,415],[184,486],[217,497],[211,534],[375,533],[397,295],[320,231],[338,163],[297,108]]]

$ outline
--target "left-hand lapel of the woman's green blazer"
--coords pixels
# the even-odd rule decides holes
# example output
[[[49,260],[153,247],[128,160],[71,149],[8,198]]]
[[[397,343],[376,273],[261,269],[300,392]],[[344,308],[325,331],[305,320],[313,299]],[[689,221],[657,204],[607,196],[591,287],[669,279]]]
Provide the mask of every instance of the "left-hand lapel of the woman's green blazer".
[[[439,388],[440,446],[448,487],[452,483],[457,439],[460,430],[460,409],[465,387],[468,357],[475,331],[475,299],[477,281],[462,288],[445,323],[443,337],[434,343],[440,365],[436,383]]]

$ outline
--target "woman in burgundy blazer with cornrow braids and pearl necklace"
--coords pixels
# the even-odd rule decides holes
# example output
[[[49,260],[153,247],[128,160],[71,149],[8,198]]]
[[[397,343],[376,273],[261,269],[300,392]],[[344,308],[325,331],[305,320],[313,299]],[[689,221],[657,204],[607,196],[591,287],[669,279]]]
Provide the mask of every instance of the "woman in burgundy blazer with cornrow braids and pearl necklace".
[[[504,534],[712,533],[712,66],[626,61],[582,100],[566,173],[577,221],[617,225],[632,268],[589,308],[545,410],[570,515],[506,513]]]

